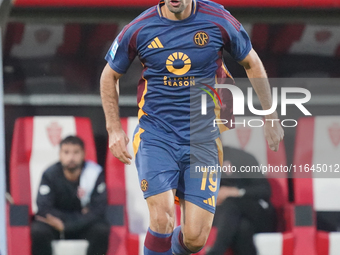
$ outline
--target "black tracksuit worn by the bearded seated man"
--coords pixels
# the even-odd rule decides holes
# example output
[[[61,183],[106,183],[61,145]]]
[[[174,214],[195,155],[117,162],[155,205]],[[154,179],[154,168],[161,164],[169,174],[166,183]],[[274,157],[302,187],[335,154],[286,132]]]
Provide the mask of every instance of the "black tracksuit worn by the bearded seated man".
[[[105,220],[107,194],[103,171],[97,176],[89,203],[86,205],[88,208],[86,214],[82,214],[83,207],[78,198],[79,180],[77,182],[67,180],[60,163],[52,165],[44,172],[37,196],[37,215],[46,217],[46,214],[51,214],[60,218],[65,226],[63,233],[65,239],[89,241],[88,255],[106,253],[110,231]],[[61,233],[50,225],[33,221],[32,254],[51,255],[51,241],[60,239],[61,236]]]

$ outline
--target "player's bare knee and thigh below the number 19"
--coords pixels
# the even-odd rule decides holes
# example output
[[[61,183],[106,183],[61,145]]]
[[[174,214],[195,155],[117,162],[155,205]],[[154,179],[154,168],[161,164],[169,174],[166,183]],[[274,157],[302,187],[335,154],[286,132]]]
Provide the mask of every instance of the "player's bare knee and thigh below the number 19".
[[[191,251],[203,247],[208,239],[214,214],[185,200],[181,204],[183,242]]]

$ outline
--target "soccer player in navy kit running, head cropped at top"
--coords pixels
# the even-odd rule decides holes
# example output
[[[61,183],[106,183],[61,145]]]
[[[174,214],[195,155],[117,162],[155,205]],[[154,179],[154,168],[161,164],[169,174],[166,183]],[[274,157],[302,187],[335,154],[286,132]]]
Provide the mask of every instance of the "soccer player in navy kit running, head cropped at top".
[[[118,81],[135,56],[144,67],[137,89],[139,124],[133,147],[150,212],[145,255],[196,253],[208,238],[219,178],[216,172],[203,171],[201,178],[192,178],[190,172],[197,166],[222,165],[219,135],[223,130],[212,125],[212,118],[232,119],[232,101],[222,95],[221,101],[226,104],[215,106],[209,102],[209,121],[202,121],[197,116],[201,105],[192,101],[191,96],[197,99],[208,88],[213,90],[209,93],[216,92],[213,83],[203,88],[200,79],[231,77],[223,63],[223,50],[244,66],[262,108],[270,109],[266,72],[247,33],[228,11],[214,2],[161,1],[127,25],[106,55],[101,97],[109,148],[125,164],[131,164],[132,156],[126,149],[129,139],[119,119]],[[277,119],[277,113],[267,115],[266,119]],[[265,133],[270,148],[276,151],[283,139],[283,129],[278,122],[273,123],[272,127],[272,122],[266,122]],[[179,198],[182,219],[174,229],[175,196]]]

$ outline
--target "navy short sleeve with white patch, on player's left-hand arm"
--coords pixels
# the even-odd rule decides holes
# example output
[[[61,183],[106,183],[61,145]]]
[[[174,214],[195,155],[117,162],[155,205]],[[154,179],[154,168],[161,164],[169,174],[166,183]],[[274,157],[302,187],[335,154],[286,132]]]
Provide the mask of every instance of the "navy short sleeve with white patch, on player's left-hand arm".
[[[113,41],[105,60],[117,73],[124,74],[137,54],[137,31],[129,25],[125,26]]]

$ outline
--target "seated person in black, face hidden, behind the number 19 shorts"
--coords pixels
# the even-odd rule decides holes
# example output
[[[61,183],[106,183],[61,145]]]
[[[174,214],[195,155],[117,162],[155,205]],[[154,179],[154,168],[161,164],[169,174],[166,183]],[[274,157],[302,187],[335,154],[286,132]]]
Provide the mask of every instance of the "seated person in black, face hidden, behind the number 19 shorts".
[[[253,235],[276,229],[270,184],[261,172],[240,172],[241,166],[258,166],[249,153],[224,147],[223,155],[223,165],[234,166],[236,172],[222,173],[214,219],[218,232],[207,255],[223,255],[229,248],[234,255],[256,255]]]

